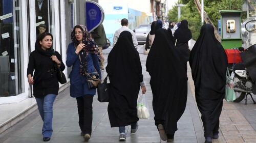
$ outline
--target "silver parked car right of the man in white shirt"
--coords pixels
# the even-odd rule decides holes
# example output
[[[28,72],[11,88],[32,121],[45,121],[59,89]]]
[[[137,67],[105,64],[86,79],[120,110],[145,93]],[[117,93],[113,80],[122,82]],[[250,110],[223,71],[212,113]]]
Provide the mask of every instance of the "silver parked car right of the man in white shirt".
[[[137,38],[138,44],[146,43],[146,37],[148,33],[150,33],[150,31],[151,31],[151,24],[140,24],[133,30]]]

